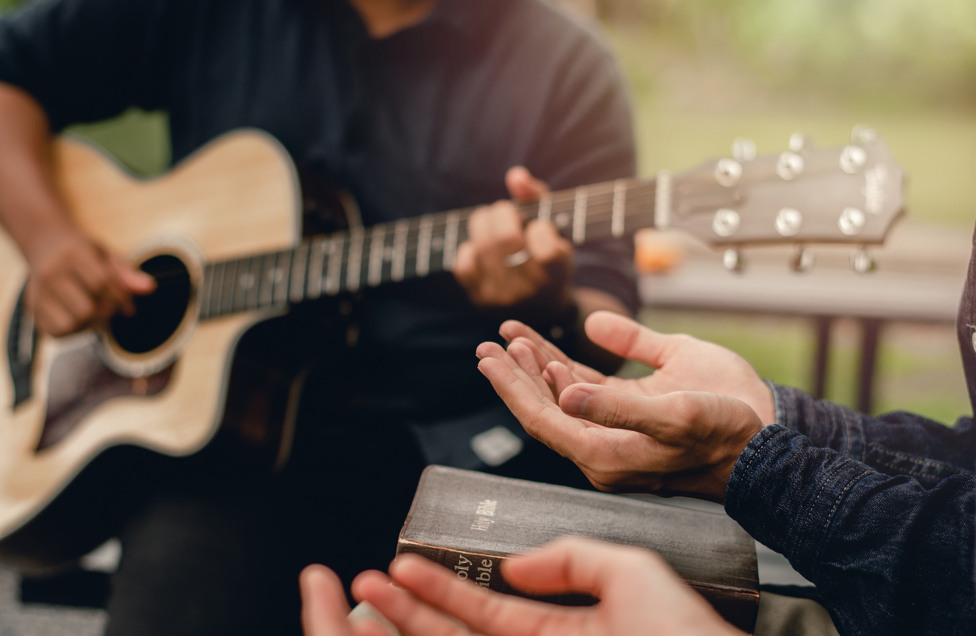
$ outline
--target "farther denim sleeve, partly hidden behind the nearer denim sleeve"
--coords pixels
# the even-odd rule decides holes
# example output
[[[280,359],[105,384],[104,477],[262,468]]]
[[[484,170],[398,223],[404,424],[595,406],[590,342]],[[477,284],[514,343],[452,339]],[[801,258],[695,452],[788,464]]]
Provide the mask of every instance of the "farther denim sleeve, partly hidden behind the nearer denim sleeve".
[[[952,427],[909,413],[868,417],[800,390],[769,383],[776,422],[814,446],[857,459],[886,475],[914,477],[931,487],[976,472],[976,427],[959,417]]]

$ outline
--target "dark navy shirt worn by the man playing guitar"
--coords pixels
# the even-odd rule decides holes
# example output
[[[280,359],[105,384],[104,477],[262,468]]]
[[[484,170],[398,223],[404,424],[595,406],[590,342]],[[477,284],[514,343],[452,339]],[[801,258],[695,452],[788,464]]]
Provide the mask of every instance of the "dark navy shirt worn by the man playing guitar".
[[[541,0],[442,0],[383,40],[344,0],[39,0],[0,20],[0,81],[38,99],[56,130],[165,109],[177,161],[264,129],[348,189],[367,225],[505,198],[514,165],[553,189],[634,171],[617,68]],[[625,241],[581,247],[575,282],[635,308],[631,257]],[[372,404],[446,417],[496,400],[473,351],[498,338],[500,317],[449,274],[363,306],[349,374]],[[396,381],[374,381],[381,368]]]

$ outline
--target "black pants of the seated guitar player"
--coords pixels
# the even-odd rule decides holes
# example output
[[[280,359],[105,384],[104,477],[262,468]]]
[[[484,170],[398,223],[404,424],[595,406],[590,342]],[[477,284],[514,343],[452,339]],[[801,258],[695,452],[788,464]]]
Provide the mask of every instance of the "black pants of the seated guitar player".
[[[386,570],[424,459],[401,423],[307,399],[287,467],[256,477],[219,450],[168,462],[121,534],[109,636],[299,634],[299,572],[324,563],[346,585]],[[587,487],[530,442],[500,474]]]

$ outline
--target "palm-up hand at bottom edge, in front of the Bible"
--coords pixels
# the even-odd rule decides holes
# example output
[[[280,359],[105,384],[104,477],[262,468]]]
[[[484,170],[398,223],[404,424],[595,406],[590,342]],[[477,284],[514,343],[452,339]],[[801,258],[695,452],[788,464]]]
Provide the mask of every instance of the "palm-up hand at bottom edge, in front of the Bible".
[[[404,636],[741,634],[659,556],[646,550],[563,538],[512,557],[502,570],[511,585],[528,593],[583,592],[600,603],[567,608],[499,594],[413,554],[397,557],[389,576],[358,576],[352,593],[372,604]]]

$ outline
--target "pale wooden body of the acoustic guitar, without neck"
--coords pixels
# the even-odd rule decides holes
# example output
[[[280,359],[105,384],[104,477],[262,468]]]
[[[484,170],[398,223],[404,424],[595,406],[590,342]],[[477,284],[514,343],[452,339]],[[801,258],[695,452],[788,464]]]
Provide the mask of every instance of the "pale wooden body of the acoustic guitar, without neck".
[[[108,449],[135,446],[186,456],[203,448],[228,419],[248,433],[253,422],[246,421],[247,399],[232,402],[235,412],[224,413],[231,360],[250,327],[283,310],[198,321],[201,272],[205,262],[293,248],[301,237],[294,169],[277,142],[259,132],[217,139],[159,179],[133,179],[101,152],[71,139],[57,142],[55,161],[61,195],[78,227],[133,262],[157,258],[169,265],[175,256],[189,286],[181,297],[182,315],[169,322],[176,329],[157,336],[151,350],[120,346],[99,330],[35,338],[22,307],[26,263],[0,231],[0,342],[7,344],[0,371],[0,557],[21,567],[53,565],[105,538],[59,528],[58,506],[51,504],[72,480],[72,489],[86,490],[106,479],[127,479],[92,465],[102,454],[122,457],[104,453]],[[165,281],[159,280],[162,288]],[[153,330],[159,325],[145,329]],[[138,325],[129,331],[142,335]],[[235,375],[263,383],[254,381],[258,374],[247,366],[235,363]],[[290,382],[278,384],[284,398],[237,391],[263,400],[259,412],[280,412],[278,407],[288,406]],[[267,437],[266,431],[257,437]],[[39,514],[49,506],[46,515]],[[78,522],[74,517],[71,524]],[[36,526],[45,528],[39,532]],[[66,544],[39,537],[59,530],[70,531]]]

